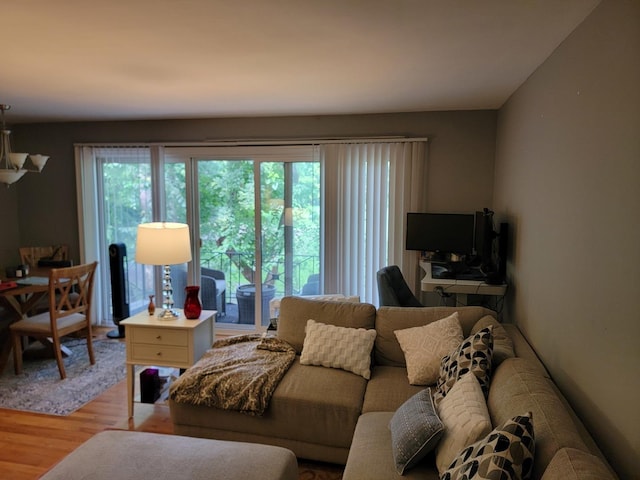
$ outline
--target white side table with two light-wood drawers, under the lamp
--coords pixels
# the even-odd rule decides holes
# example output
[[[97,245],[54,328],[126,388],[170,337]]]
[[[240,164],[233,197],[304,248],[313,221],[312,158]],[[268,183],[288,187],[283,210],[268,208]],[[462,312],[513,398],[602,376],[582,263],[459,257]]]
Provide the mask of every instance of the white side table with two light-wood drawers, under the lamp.
[[[197,320],[180,316],[165,320],[144,311],[120,322],[127,345],[127,400],[133,417],[135,366],[189,368],[209,349],[214,340],[215,310],[203,310]]]

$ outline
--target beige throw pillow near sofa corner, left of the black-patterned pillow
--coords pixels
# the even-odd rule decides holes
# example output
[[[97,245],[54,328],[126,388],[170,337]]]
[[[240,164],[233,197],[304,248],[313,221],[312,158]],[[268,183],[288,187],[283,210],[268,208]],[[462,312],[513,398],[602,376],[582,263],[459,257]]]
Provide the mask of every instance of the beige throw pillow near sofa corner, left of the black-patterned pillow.
[[[433,385],[438,379],[442,357],[463,340],[458,312],[420,327],[393,332],[404,352],[411,385]]]

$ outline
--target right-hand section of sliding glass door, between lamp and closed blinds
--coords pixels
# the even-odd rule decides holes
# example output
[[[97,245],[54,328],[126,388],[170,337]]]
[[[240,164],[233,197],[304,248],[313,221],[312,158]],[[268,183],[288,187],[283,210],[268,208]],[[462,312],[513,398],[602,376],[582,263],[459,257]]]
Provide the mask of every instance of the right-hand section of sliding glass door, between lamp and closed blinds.
[[[201,287],[203,307],[218,311],[218,328],[264,328],[272,299],[321,293],[320,163],[312,153],[166,152],[167,164],[190,165],[185,196],[194,201],[186,210],[200,266],[190,278]]]

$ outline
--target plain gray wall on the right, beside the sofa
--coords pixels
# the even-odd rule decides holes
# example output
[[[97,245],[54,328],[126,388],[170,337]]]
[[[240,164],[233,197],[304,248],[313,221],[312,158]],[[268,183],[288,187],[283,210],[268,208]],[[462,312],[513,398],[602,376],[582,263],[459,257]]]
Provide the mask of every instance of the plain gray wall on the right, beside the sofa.
[[[640,2],[605,0],[499,112],[506,315],[624,478],[640,465]]]

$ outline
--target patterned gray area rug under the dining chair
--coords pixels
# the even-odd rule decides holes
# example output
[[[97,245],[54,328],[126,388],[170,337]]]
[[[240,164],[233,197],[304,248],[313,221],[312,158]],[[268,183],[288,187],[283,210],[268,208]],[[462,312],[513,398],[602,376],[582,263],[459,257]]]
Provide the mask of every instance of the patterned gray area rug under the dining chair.
[[[63,341],[72,354],[64,358],[67,378],[60,380],[54,358],[25,359],[15,375],[9,362],[0,376],[0,408],[69,415],[126,378],[125,344],[94,340],[96,363],[89,363],[84,339]]]

